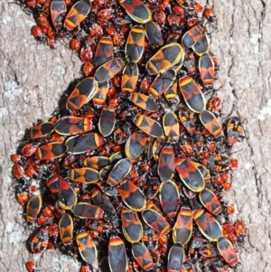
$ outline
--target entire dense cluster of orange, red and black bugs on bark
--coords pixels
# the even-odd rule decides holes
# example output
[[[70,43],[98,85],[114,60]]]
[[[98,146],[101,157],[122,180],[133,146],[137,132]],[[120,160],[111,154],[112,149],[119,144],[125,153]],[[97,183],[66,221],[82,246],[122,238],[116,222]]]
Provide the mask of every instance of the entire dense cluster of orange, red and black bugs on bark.
[[[222,195],[243,136],[238,117],[220,122],[213,10],[192,0],[20,3],[36,38],[70,39],[87,77],[11,156],[30,250],[60,249],[84,272],[237,267],[246,226],[231,223]]]

